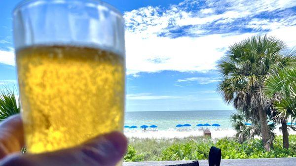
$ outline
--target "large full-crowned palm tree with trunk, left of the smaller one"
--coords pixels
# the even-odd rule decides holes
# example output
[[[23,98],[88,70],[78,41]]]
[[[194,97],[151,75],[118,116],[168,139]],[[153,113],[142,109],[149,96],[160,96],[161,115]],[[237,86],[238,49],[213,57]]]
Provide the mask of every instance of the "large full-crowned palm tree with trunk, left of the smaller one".
[[[231,45],[218,64],[222,75],[218,90],[224,101],[259,120],[267,151],[272,144],[267,126],[267,113],[272,104],[263,94],[263,84],[267,75],[290,63],[291,57],[280,54],[285,48],[285,43],[275,37],[252,36]]]

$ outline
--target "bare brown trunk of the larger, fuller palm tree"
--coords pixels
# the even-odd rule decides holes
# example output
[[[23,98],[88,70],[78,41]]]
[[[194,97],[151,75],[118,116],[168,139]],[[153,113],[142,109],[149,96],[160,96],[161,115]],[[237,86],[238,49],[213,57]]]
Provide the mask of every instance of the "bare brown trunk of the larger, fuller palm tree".
[[[264,149],[266,151],[270,151],[270,139],[269,139],[269,130],[267,126],[267,115],[264,109],[259,109],[259,120],[260,120],[260,128],[262,135],[262,142],[264,145]]]

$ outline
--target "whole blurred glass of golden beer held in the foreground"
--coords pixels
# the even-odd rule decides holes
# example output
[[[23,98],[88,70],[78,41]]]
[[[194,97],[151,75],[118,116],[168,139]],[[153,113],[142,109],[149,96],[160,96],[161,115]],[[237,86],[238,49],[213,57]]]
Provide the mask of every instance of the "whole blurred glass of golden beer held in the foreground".
[[[122,14],[100,0],[27,0],[13,33],[29,153],[123,130]]]

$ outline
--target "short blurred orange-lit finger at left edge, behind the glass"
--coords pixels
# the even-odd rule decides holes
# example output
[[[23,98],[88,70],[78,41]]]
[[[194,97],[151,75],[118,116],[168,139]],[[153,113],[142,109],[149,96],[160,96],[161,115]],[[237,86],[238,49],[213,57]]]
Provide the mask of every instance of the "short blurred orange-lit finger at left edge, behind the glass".
[[[21,116],[10,116],[0,123],[0,159],[24,146],[24,131]]]

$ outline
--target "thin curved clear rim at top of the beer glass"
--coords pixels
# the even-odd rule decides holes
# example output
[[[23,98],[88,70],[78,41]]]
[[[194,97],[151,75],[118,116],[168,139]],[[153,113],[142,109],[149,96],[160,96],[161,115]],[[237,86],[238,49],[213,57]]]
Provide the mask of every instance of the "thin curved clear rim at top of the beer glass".
[[[51,2],[51,3],[55,3],[55,2],[65,2],[65,3],[69,3],[69,2],[90,2],[93,4],[99,4],[105,7],[108,7],[111,11],[117,13],[118,15],[120,15],[121,17],[123,17],[123,14],[114,6],[112,6],[111,4],[104,2],[102,0],[22,0],[19,3],[17,3],[17,5],[13,8],[12,10],[12,14],[14,15],[15,12],[17,12],[18,10],[20,10],[23,7],[26,7],[27,5],[33,3],[33,2],[37,2],[37,1],[44,1],[44,2]]]

